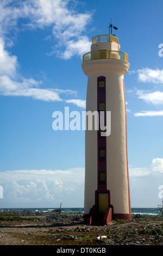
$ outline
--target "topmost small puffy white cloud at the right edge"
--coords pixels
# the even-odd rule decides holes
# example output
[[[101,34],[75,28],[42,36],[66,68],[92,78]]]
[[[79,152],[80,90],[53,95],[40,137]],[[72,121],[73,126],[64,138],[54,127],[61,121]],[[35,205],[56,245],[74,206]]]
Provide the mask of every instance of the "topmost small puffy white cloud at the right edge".
[[[163,83],[163,69],[143,68],[137,70],[139,81],[143,83]]]

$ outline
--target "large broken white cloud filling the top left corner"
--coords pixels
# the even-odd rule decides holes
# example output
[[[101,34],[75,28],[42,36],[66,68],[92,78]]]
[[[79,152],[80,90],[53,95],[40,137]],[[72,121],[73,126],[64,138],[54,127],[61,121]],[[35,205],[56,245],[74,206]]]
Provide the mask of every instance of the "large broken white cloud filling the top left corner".
[[[75,54],[82,56],[90,50],[91,41],[83,35],[86,25],[92,19],[90,13],[78,13],[72,0],[29,0],[18,2],[2,1],[0,28],[4,33],[17,31],[19,19],[27,23],[21,29],[51,28],[55,39],[54,49],[58,57],[68,59]],[[76,2],[77,5],[77,2]],[[49,35],[49,36],[51,36]],[[48,36],[48,38],[49,38]]]

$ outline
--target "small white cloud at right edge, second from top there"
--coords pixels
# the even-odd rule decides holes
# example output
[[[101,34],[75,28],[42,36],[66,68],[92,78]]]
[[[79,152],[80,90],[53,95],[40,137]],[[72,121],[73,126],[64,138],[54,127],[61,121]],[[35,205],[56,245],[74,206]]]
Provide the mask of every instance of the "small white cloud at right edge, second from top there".
[[[152,103],[154,105],[163,104],[163,92],[152,92],[148,93],[143,90],[137,90],[137,95],[139,95],[139,99],[146,101],[147,103]]]

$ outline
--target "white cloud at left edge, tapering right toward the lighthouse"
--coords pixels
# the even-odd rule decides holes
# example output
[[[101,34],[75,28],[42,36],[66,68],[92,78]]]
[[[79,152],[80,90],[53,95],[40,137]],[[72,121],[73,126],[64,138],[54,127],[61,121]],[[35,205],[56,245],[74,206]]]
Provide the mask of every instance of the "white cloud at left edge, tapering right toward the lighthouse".
[[[4,41],[1,38],[4,44]],[[0,58],[0,94],[5,96],[26,96],[43,101],[62,101],[60,94],[77,95],[70,89],[40,89],[41,81],[24,78],[17,74],[18,61],[4,47]],[[19,80],[19,81],[17,81]]]

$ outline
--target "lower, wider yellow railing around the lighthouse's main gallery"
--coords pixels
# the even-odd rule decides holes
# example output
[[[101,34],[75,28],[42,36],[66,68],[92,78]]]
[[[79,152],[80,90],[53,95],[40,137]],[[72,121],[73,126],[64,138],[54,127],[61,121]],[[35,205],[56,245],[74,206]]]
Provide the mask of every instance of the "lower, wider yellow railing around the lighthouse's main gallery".
[[[87,52],[83,55],[83,63],[95,59],[120,59],[128,62],[128,54],[120,51],[99,50]]]

